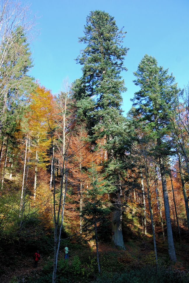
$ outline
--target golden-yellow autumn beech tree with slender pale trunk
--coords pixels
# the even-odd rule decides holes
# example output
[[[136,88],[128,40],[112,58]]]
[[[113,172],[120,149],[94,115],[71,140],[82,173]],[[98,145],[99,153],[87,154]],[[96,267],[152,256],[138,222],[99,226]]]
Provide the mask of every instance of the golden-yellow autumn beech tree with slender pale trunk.
[[[29,134],[31,138],[31,151],[34,152],[34,200],[37,188],[38,163],[48,165],[47,151],[51,146],[50,128],[54,127],[55,101],[51,92],[45,87],[38,86],[29,96],[30,106],[27,116]]]

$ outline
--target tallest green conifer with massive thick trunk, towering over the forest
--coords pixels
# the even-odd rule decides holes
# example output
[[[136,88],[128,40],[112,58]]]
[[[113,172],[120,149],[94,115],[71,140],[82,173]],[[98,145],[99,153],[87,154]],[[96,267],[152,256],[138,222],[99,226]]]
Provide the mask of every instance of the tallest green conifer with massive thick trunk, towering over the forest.
[[[120,183],[116,160],[120,149],[125,152],[122,145],[126,123],[122,116],[121,93],[126,89],[120,76],[120,72],[126,70],[123,61],[128,49],[122,46],[125,32],[118,29],[108,13],[97,10],[87,17],[84,34],[80,42],[87,46],[77,58],[83,75],[74,82],[73,96],[78,101],[78,116],[85,120],[91,142],[95,144],[101,138],[106,141],[106,182],[110,184],[115,204],[112,213],[113,244],[123,248],[121,204],[118,188],[113,184]]]

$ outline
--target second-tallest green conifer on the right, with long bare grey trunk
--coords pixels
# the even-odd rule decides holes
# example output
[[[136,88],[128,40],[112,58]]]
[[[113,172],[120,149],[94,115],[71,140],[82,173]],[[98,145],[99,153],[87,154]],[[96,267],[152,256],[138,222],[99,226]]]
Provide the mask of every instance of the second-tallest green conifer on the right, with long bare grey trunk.
[[[174,76],[168,74],[168,69],[159,67],[157,60],[147,54],[142,58],[134,75],[136,76],[134,83],[140,87],[140,90],[134,94],[133,106],[136,106],[139,121],[147,123],[148,133],[154,140],[152,154],[158,158],[160,165],[168,252],[171,260],[176,261],[166,184],[166,159],[171,155],[171,144],[167,138],[171,127],[170,113],[179,90],[174,83]]]

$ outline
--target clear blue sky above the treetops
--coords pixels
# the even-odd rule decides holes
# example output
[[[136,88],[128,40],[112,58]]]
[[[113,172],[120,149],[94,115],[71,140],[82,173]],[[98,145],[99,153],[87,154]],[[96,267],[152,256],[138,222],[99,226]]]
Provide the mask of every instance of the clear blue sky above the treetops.
[[[189,81],[189,1],[188,0],[97,0],[61,1],[30,0],[37,14],[39,34],[30,48],[34,67],[30,75],[57,94],[63,80],[73,82],[81,77],[81,65],[74,60],[83,48],[78,37],[83,35],[90,11],[108,12],[119,28],[127,31],[123,46],[129,48],[125,58],[127,72],[122,73],[127,92],[123,93],[125,115],[137,90],[133,72],[145,54],[169,68],[179,87]]]

